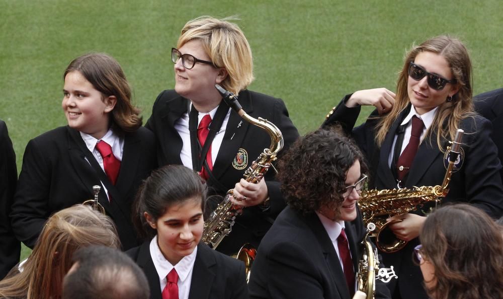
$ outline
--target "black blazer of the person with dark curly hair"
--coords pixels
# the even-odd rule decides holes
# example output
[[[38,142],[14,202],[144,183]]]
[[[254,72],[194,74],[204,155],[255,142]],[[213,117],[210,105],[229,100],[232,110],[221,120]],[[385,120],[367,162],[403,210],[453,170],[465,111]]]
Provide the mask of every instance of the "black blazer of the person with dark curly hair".
[[[345,222],[355,273],[365,238],[362,217]],[[251,267],[250,298],[350,299],[339,257],[315,213],[303,216],[286,207],[260,244]],[[376,298],[390,298],[380,281]]]

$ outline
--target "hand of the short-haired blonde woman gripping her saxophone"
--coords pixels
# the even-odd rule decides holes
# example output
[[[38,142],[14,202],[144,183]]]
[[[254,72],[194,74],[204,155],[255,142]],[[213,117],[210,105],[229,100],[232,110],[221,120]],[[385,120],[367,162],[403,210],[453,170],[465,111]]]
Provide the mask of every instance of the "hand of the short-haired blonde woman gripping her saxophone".
[[[236,183],[232,194],[230,201],[234,205],[241,207],[258,205],[264,202],[268,196],[267,185],[264,178],[256,184],[241,179]]]

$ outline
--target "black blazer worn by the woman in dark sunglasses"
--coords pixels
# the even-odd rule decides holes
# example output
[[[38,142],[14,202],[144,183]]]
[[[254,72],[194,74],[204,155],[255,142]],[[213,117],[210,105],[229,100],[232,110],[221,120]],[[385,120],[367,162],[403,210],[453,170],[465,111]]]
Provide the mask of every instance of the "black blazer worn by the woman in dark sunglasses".
[[[370,188],[379,190],[396,188],[395,178],[388,167],[388,156],[396,130],[409,112],[410,106],[398,116],[383,144],[378,148],[375,143],[374,129],[378,120],[369,118],[361,126],[353,128],[360,113],[360,107],[346,107],[344,101],[350,96],[346,96],[332,110],[323,126],[339,123],[352,135],[369,163],[370,176],[373,178]],[[374,111],[371,116],[377,116],[377,112]],[[462,140],[463,163],[460,170],[452,174],[449,193],[442,202],[471,203],[493,218],[499,218],[503,214],[503,187],[499,176],[501,165],[496,156],[496,146],[489,137],[491,125],[487,119],[475,116],[462,120],[459,127],[465,131]],[[440,185],[444,179],[446,173],[444,154],[437,146],[436,132],[431,132],[431,143],[427,140],[423,140],[417,150],[405,181],[406,188]],[[448,141],[442,140],[443,148],[447,147]],[[425,204],[414,213],[424,215],[433,206],[433,203]],[[418,238],[408,242],[404,249],[396,253],[381,253],[384,263],[388,267],[393,266],[398,275],[398,280],[391,280],[388,287],[393,292],[398,283],[403,298],[428,298],[422,286],[423,276],[420,268],[414,265],[411,259],[413,248],[417,244],[419,244]]]

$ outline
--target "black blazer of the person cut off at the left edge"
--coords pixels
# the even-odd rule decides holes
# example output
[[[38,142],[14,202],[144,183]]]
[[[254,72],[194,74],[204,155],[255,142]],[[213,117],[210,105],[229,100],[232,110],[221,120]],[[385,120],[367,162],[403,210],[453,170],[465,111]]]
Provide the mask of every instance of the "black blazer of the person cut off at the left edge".
[[[16,154],[7,125],[0,120],[0,280],[19,262],[21,253],[21,243],[14,236],[9,218],[17,182]]]

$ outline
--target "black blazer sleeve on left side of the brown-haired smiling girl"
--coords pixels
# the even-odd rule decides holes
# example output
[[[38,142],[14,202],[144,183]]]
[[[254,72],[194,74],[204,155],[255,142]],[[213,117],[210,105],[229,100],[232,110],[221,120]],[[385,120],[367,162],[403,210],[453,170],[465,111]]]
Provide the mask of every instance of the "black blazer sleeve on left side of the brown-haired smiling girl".
[[[18,240],[33,248],[49,215],[51,169],[43,152],[33,139],[28,142],[23,156],[11,218]]]

